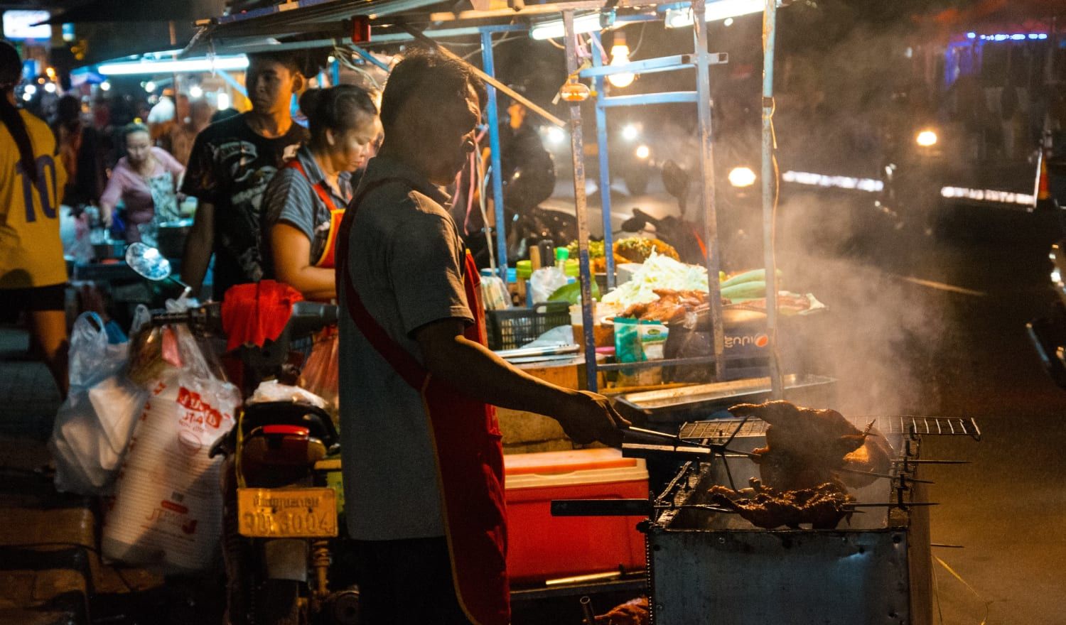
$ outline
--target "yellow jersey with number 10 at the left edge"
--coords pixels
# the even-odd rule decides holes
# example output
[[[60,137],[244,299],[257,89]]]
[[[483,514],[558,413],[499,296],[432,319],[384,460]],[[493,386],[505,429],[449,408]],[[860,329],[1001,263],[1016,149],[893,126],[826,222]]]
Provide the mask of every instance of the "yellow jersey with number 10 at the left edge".
[[[0,124],[0,289],[29,289],[67,280],[60,241],[60,200],[66,170],[48,125],[19,111],[36,157],[37,182],[22,171],[18,146]]]

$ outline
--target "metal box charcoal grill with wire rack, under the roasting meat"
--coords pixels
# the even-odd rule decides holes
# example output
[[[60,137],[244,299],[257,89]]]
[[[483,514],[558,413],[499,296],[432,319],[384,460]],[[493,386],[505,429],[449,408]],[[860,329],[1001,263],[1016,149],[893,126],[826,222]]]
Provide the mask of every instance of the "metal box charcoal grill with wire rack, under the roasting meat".
[[[980,441],[981,430],[965,417],[852,421],[860,429],[873,421],[893,459],[883,477],[851,490],[854,514],[836,529],[762,529],[710,501],[712,486],[744,488],[759,476],[746,454],[765,444],[769,425],[757,418],[691,422],[677,437],[628,440],[627,456],[689,460],[650,501],[556,501],[553,513],[648,514],[642,527],[655,625],[931,625],[934,504],[920,472],[953,461],[921,458],[921,441]]]

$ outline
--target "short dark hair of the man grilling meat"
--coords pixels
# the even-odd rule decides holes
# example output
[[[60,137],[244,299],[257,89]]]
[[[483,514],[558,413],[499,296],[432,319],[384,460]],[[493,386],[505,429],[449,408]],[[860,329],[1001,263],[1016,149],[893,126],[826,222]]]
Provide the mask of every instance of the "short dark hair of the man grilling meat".
[[[407,52],[392,68],[382,95],[382,128],[386,136],[411,98],[423,96],[430,101],[445,101],[458,97],[466,100],[469,87],[473,87],[478,103],[484,109],[488,99],[485,83],[469,65],[424,48]]]

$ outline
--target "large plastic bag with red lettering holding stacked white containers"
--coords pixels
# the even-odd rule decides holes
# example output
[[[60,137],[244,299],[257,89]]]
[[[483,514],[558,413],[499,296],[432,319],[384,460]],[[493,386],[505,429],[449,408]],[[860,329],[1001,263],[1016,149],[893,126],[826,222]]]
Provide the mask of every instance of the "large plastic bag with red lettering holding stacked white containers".
[[[151,389],[107,510],[104,556],[164,572],[207,569],[222,533],[222,458],[211,446],[233,427],[240,393],[209,373],[195,339],[173,328],[181,366]]]

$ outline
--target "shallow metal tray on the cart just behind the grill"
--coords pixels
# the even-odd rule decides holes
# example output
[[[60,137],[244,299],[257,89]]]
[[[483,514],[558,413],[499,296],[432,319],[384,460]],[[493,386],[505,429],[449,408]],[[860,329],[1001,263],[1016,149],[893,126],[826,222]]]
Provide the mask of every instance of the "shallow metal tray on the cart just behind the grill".
[[[809,374],[789,374],[784,377],[785,390],[795,391],[814,386],[828,386],[836,379]],[[631,410],[648,415],[668,412],[691,412],[727,407],[758,399],[771,392],[770,378],[745,378],[728,382],[713,382],[663,391],[644,391],[619,395],[617,401]]]

